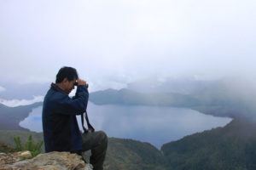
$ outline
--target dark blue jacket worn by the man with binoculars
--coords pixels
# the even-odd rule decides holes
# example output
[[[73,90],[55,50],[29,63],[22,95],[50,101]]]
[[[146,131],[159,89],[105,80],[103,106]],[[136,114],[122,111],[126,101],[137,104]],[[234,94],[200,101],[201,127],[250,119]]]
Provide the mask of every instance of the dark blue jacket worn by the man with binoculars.
[[[87,108],[88,89],[77,88],[73,99],[54,83],[44,97],[43,131],[45,152],[82,150],[82,136],[76,115]]]

